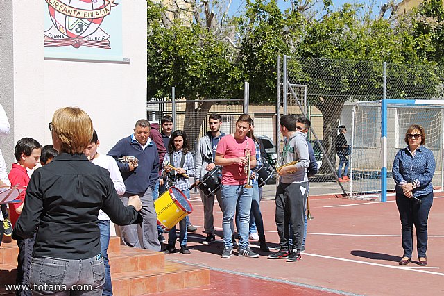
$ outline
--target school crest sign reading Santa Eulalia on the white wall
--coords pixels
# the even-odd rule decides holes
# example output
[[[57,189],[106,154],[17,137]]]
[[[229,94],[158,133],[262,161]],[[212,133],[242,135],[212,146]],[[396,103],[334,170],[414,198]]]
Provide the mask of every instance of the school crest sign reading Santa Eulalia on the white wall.
[[[112,32],[107,29],[106,33],[102,27],[114,16],[116,0],[44,1],[47,6],[45,24],[50,24],[44,32],[45,51],[48,47],[111,49]]]

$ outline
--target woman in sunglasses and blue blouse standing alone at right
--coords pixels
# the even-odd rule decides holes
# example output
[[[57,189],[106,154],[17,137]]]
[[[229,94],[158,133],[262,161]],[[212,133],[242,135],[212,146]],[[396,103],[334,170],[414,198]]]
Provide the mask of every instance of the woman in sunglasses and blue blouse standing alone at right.
[[[432,151],[423,147],[425,133],[422,126],[412,124],[404,141],[407,147],[398,151],[393,161],[393,179],[396,183],[396,205],[400,212],[402,248],[400,265],[407,265],[413,250],[413,225],[416,228],[418,265],[427,265],[427,220],[433,202],[432,178],[435,158]],[[419,199],[421,202],[418,202]]]

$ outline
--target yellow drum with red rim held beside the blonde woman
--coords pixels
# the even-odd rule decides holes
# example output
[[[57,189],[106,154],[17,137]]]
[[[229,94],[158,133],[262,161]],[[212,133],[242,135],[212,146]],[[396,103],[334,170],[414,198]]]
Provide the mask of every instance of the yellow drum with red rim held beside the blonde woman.
[[[176,187],[171,187],[154,201],[157,224],[166,230],[173,228],[180,220],[191,214],[193,207],[187,197]]]

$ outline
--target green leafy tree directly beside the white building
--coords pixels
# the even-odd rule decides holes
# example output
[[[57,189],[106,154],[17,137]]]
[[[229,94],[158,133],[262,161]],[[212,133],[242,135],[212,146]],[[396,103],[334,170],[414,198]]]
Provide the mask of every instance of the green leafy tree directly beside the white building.
[[[194,99],[230,99],[243,97],[243,84],[230,63],[232,56],[228,42],[200,22],[185,23],[173,20],[164,25],[164,8],[148,2],[147,35],[147,97],[170,97],[171,87],[176,97]],[[189,133],[193,143],[212,106],[203,101],[196,106],[187,104],[185,126],[194,129]]]

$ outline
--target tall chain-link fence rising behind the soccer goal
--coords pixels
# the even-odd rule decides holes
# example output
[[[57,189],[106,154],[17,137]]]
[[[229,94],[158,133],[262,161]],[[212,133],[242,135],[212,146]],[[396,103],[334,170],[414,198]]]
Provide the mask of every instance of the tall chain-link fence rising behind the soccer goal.
[[[288,56],[284,56],[282,63],[279,60],[278,115],[306,113],[311,120],[308,139],[313,142],[316,160],[321,165],[318,174],[310,180],[311,194],[350,190],[350,182],[337,179],[336,137],[338,127],[344,125],[348,128],[345,138],[348,143],[352,142],[352,109],[356,101],[442,99],[443,79],[441,67]],[[371,114],[368,114],[368,120],[381,124],[380,117]],[[414,117],[411,123],[416,123]],[[369,133],[377,134],[378,131]],[[380,136],[379,132],[376,135],[378,141]],[[282,145],[279,134],[275,140],[280,143],[277,145],[279,153]],[[343,173],[341,170],[339,176]],[[372,180],[379,178],[376,173]],[[392,181],[389,179],[388,182]]]

